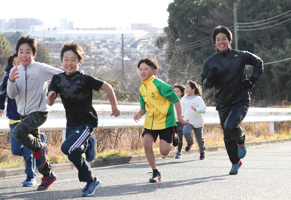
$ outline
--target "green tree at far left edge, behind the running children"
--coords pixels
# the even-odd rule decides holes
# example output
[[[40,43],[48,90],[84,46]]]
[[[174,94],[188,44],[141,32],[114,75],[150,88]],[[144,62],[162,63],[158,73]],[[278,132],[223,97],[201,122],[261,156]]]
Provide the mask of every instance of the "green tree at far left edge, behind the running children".
[[[6,39],[5,35],[0,33],[0,77],[3,78],[5,74],[4,67],[7,65],[7,59],[11,56],[12,50],[9,41]]]

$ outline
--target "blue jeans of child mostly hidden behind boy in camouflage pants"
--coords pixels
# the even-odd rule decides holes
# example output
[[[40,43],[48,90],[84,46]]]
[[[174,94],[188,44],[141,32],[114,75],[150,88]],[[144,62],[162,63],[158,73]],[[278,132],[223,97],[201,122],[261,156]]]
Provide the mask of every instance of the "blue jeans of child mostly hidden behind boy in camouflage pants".
[[[30,149],[27,147],[24,147],[22,144],[20,144],[17,140],[15,140],[12,136],[13,128],[17,125],[10,124],[10,142],[11,142],[11,151],[13,155],[16,156],[23,156],[25,161],[25,174],[29,176],[30,178],[36,177],[36,160],[34,159]]]

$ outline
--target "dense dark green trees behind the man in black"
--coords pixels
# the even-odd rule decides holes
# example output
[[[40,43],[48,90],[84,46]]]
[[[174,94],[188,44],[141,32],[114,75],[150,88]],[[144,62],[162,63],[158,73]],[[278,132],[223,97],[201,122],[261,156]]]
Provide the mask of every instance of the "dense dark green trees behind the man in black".
[[[189,65],[191,71],[197,73],[196,76],[200,75],[204,61],[216,49],[211,38],[213,28],[224,25],[231,31],[234,30],[233,2],[234,0],[174,0],[169,4],[168,27],[165,28],[166,38],[156,41],[159,49],[166,47],[163,53],[166,58],[165,65],[170,67],[168,72],[174,71],[174,66],[178,63],[180,63],[180,70],[187,71],[186,63],[189,65],[193,60],[193,63]],[[237,0],[236,2],[239,23],[261,21],[291,10],[289,0]],[[264,63],[289,58],[288,39],[291,38],[291,21],[280,24],[290,19],[289,14],[273,18],[272,20],[282,19],[272,23],[267,23],[272,20],[263,21],[261,23],[266,24],[260,26],[255,26],[255,24],[261,23],[247,24],[249,27],[242,27],[246,25],[239,24],[238,50],[250,51],[260,56]],[[253,31],[242,30],[271,25],[275,26]],[[232,47],[234,48],[234,41]],[[190,56],[191,59],[185,55]],[[252,90],[252,97],[255,96],[256,101],[268,99],[269,102],[275,103],[290,96],[290,79],[288,79],[290,72],[286,68],[289,64],[289,61],[284,61],[264,66],[265,72]],[[251,67],[247,72],[250,76]],[[211,93],[212,90],[203,90],[203,98],[211,102],[213,100]]]

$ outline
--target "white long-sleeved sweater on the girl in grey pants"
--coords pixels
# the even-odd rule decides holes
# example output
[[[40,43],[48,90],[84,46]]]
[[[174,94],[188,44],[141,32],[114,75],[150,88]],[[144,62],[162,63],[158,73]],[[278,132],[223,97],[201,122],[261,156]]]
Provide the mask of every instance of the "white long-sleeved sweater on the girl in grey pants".
[[[191,106],[195,106],[196,111],[194,111]],[[204,120],[202,113],[206,113],[206,106],[203,99],[200,96],[188,96],[183,97],[182,110],[186,108],[186,115],[184,120],[189,119],[189,124],[194,128],[199,128],[203,126]]]

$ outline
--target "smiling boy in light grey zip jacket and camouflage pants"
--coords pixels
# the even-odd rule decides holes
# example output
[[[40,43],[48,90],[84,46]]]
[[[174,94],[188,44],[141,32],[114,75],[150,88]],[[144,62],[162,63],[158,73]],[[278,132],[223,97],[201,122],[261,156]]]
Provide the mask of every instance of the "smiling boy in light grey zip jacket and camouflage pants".
[[[38,127],[47,120],[49,112],[46,102],[47,80],[62,70],[34,61],[37,42],[29,35],[18,39],[16,52],[20,65],[10,70],[7,94],[16,100],[21,122],[14,127],[12,135],[33,152],[36,168],[43,175],[37,189],[47,190],[56,180],[56,176],[47,160],[47,144],[40,140]]]

